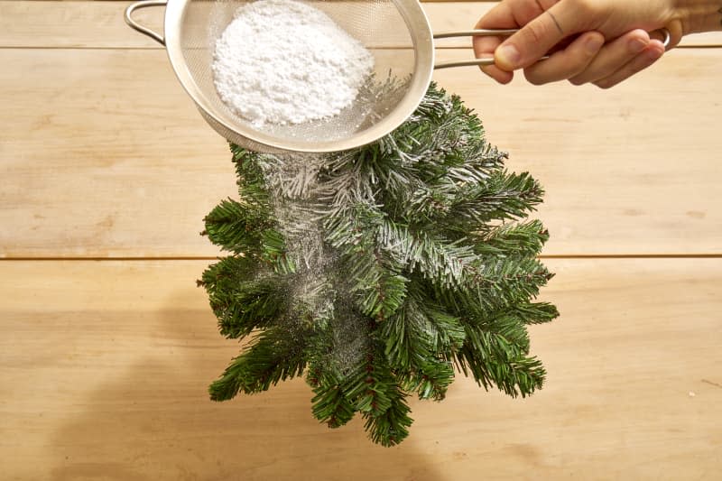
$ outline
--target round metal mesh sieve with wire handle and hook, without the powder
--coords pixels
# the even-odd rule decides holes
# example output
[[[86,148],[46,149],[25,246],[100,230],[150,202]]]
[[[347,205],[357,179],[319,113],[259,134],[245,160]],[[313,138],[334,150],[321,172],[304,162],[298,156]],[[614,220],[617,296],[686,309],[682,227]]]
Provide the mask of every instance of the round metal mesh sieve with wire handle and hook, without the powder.
[[[433,69],[493,63],[465,60],[434,66],[435,38],[509,35],[516,30],[473,30],[433,35],[417,0],[311,0],[371,51],[375,75],[338,116],[298,125],[257,127],[237,116],[218,97],[213,52],[236,10],[237,0],[143,0],[129,5],[125,22],[165,46],[171,66],[200,114],[218,134],[257,152],[333,152],[374,142],[412,115],[429,87]],[[132,18],[135,10],[165,8],[164,35]],[[292,42],[292,32],[289,32]],[[390,80],[391,82],[386,82]]]

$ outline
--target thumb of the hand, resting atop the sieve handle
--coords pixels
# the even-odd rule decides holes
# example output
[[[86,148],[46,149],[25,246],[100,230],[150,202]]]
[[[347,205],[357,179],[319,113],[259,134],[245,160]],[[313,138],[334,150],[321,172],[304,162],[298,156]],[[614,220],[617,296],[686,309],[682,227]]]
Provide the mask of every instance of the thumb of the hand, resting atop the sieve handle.
[[[562,1],[524,25],[495,50],[496,66],[506,71],[528,67],[565,37],[581,32],[579,12],[575,18],[570,10],[573,7]]]

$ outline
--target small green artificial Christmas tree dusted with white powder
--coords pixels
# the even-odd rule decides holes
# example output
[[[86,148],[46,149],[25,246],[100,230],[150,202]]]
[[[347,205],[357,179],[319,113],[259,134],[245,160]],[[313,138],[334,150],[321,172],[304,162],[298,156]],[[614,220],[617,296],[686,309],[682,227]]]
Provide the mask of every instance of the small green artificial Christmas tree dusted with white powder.
[[[443,399],[455,365],[511,396],[542,386],[526,326],[558,313],[532,301],[551,278],[536,258],[548,233],[523,220],[542,187],[504,171],[458,97],[431,85],[393,134],[344,153],[231,150],[240,199],[205,219],[231,254],[199,284],[221,334],[252,340],[211,399],[305,374],[316,418],[360,412],[392,446],[407,397]]]

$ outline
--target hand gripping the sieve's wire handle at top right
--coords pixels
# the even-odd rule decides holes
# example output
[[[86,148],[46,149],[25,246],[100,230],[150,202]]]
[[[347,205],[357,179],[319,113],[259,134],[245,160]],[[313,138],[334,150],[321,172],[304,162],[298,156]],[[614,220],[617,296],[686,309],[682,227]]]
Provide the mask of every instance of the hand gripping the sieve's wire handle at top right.
[[[662,57],[662,35],[652,38],[648,32],[666,28],[674,46],[692,30],[694,19],[677,8],[681,2],[503,0],[477,28],[521,30],[505,41],[475,37],[474,51],[477,58],[494,56],[495,65],[482,70],[500,83],[508,83],[515,69],[523,69],[526,79],[537,85],[569,79],[575,85],[591,82],[609,88]],[[718,0],[708,2],[710,14],[718,8]],[[549,60],[537,61],[548,52]]]

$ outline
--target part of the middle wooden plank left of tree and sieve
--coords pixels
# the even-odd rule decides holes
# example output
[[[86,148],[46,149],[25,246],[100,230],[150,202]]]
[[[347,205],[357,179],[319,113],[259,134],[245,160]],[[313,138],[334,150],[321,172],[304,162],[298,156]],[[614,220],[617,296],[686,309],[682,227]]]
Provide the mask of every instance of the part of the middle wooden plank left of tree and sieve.
[[[0,58],[17,62],[0,72],[0,223],[13,226],[0,230],[0,255],[217,253],[198,233],[237,192],[227,143],[163,51]]]

